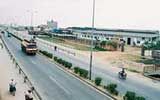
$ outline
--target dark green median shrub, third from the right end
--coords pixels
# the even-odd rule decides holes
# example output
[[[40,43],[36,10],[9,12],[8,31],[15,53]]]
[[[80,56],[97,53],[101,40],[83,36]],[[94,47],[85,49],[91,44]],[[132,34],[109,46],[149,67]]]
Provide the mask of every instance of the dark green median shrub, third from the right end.
[[[118,91],[116,90],[117,84],[109,84],[107,86],[104,86],[104,88],[113,95],[118,95]]]

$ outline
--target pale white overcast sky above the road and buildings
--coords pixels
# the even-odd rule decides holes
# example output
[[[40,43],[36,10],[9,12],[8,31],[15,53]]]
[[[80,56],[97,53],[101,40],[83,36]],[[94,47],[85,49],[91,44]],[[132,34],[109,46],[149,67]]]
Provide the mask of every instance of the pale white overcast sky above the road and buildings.
[[[160,30],[160,0],[95,0],[95,27]],[[0,24],[91,27],[93,0],[0,0]]]

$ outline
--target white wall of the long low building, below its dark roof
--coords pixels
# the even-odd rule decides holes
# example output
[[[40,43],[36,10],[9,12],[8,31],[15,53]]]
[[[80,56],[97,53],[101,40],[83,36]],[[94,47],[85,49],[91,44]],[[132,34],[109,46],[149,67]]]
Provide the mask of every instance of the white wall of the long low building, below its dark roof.
[[[74,32],[78,39],[91,40],[92,35],[90,32]],[[126,33],[126,32],[106,32],[106,33],[94,33],[93,40],[107,41],[112,39],[124,40],[128,45],[140,46],[144,41],[151,41],[152,38],[158,38],[157,34],[145,34],[145,33]]]

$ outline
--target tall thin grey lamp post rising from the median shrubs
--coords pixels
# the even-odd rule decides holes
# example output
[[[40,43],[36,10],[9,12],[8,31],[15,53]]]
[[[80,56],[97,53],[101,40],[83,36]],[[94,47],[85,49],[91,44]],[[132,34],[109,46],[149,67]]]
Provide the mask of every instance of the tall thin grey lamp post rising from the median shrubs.
[[[90,52],[90,66],[89,66],[89,79],[92,79],[92,60],[93,60],[93,33],[94,33],[94,19],[95,19],[95,0],[93,0],[92,12],[92,33],[91,33],[91,52]]]

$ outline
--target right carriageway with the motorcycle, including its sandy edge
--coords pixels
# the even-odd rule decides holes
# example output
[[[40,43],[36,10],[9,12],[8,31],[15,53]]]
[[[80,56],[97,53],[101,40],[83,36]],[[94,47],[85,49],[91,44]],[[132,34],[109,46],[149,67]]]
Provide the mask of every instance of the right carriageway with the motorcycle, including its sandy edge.
[[[54,55],[61,57],[69,62],[72,62],[75,66],[79,66],[88,70],[89,68],[89,58],[84,58],[81,56],[73,56],[61,51],[54,51],[54,48],[38,43],[39,48],[42,50],[47,50],[52,52]],[[103,66],[103,67],[101,67]],[[118,78],[119,68],[109,67],[109,65],[104,65],[93,59],[93,79],[95,76],[100,76],[103,78],[103,83],[117,83],[118,90],[121,94],[126,91],[134,91],[138,95],[144,96],[147,100],[160,100],[160,82],[148,79],[142,75],[136,73],[127,72],[127,80],[120,80]]]

